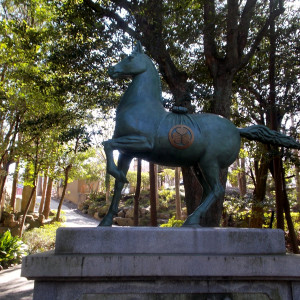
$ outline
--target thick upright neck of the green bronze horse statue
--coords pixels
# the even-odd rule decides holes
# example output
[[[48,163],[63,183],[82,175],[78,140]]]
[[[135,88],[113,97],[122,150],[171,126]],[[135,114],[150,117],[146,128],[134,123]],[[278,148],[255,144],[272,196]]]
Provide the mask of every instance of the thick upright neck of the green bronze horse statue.
[[[146,109],[151,106],[164,110],[160,79],[154,66],[150,65],[145,72],[133,78],[121,99],[118,110],[135,105],[141,105]]]

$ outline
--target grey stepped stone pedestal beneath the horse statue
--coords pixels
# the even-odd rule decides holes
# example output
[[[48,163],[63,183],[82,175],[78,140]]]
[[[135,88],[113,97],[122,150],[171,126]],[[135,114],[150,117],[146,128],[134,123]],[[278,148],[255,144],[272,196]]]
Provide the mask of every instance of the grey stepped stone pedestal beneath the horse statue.
[[[299,300],[284,233],[232,228],[60,228],[25,257],[35,300]]]

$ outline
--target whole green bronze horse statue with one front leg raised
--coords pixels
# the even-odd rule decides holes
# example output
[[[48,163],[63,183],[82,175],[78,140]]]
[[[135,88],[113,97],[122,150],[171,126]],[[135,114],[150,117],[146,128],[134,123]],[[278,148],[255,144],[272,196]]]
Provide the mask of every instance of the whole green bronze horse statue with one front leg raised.
[[[118,213],[121,191],[134,157],[164,166],[192,166],[203,187],[202,204],[184,225],[198,225],[211,205],[222,199],[224,188],[219,173],[230,166],[246,137],[264,143],[300,148],[294,139],[254,125],[238,129],[229,120],[214,114],[168,112],[163,106],[159,74],[138,42],[134,51],[109,68],[111,78],[131,76],[132,82],[121,97],[116,112],[113,138],[103,143],[107,172],[115,177],[114,195],[108,213],[99,226],[111,226]],[[119,150],[118,164],[113,150]]]

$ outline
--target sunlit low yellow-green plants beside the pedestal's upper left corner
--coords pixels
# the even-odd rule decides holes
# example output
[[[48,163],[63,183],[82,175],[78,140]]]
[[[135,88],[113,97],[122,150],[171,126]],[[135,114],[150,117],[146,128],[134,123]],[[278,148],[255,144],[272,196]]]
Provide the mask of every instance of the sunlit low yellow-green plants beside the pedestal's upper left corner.
[[[28,245],[29,254],[53,250],[56,230],[61,226],[60,222],[54,222],[26,231],[23,235],[23,241]]]

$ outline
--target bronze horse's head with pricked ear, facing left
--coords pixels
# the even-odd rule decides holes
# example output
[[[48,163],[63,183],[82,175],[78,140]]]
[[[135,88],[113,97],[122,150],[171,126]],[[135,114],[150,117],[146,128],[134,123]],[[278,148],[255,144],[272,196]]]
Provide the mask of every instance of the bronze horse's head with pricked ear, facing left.
[[[144,54],[142,45],[138,41],[132,53],[115,66],[110,67],[108,74],[113,79],[141,74],[147,69],[145,58],[147,56]]]

